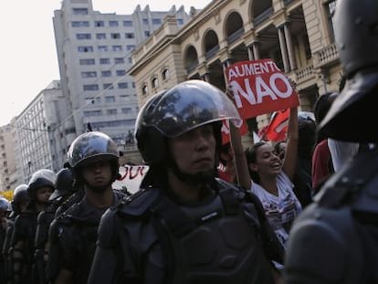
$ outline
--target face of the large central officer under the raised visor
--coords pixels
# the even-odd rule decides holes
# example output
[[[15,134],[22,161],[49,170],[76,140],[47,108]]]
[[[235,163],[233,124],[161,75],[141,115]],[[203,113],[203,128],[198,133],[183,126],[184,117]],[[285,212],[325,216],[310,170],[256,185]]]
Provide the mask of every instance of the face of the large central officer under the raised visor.
[[[170,139],[170,149],[177,166],[186,174],[197,174],[214,169],[213,126],[206,124]]]

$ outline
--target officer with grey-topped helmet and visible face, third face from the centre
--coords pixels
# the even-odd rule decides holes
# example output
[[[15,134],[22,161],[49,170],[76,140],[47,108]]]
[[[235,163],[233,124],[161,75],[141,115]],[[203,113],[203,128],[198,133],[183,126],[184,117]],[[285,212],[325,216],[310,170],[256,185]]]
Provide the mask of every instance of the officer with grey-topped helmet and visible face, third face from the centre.
[[[32,174],[27,185],[27,195],[29,195],[30,201],[26,205],[26,211],[16,217],[11,241],[14,283],[34,283],[36,281],[34,239],[37,215],[47,207],[56,178],[57,175],[53,171],[41,169]]]

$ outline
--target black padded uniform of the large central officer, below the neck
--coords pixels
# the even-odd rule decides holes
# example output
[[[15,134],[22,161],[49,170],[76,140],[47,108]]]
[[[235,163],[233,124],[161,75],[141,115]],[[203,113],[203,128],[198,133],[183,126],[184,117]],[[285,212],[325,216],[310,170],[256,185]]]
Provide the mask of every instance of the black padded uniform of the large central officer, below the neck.
[[[89,283],[273,283],[282,247],[256,196],[215,186],[193,205],[150,188],[109,210]]]

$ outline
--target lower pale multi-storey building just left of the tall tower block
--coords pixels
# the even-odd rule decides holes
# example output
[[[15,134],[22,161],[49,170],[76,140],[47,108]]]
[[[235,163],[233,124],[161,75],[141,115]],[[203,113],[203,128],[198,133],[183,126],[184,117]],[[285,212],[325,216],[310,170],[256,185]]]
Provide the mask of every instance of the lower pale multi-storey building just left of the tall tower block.
[[[76,137],[72,121],[66,119],[70,113],[60,82],[55,80],[12,121],[18,184],[27,183],[39,169],[58,172],[63,167],[68,146]]]

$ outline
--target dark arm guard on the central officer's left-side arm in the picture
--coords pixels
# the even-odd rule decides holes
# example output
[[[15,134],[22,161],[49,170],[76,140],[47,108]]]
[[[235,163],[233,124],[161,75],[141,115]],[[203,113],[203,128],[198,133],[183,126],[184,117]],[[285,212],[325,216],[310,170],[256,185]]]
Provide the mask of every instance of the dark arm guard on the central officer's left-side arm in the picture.
[[[96,252],[89,272],[88,284],[116,283],[117,267],[120,266],[115,247],[116,231],[114,210],[108,209],[101,217]]]

